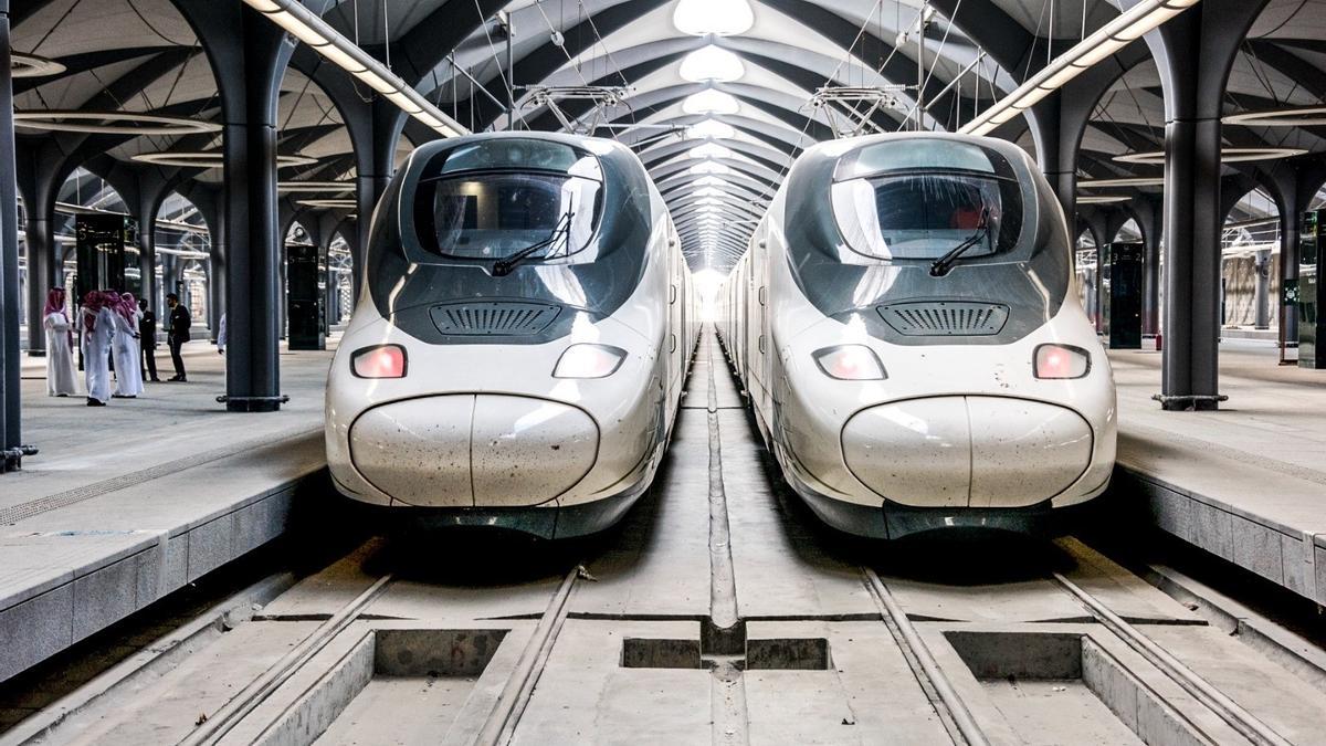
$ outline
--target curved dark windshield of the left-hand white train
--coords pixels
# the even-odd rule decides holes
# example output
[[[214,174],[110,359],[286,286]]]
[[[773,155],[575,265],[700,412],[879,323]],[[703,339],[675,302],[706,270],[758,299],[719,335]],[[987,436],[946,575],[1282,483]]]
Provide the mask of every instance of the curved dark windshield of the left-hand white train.
[[[598,159],[553,142],[459,147],[419,183],[415,220],[428,251],[448,259],[573,261],[602,211]]]

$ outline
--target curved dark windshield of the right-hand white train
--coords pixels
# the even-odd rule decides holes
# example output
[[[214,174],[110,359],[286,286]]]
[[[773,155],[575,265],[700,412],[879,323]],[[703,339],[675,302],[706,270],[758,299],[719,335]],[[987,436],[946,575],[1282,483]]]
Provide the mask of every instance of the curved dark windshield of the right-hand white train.
[[[963,259],[1017,244],[1022,192],[1009,162],[965,142],[879,143],[843,158],[833,208],[847,246],[880,260]]]

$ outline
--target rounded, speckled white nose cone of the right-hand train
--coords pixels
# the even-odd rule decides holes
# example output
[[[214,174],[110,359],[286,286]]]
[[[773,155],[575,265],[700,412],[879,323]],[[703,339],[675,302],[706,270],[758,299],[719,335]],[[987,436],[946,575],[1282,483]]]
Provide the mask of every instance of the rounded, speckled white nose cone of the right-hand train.
[[[1066,490],[1091,463],[1075,411],[1001,397],[932,397],[859,411],[842,430],[851,473],[916,507],[1024,507]]]

